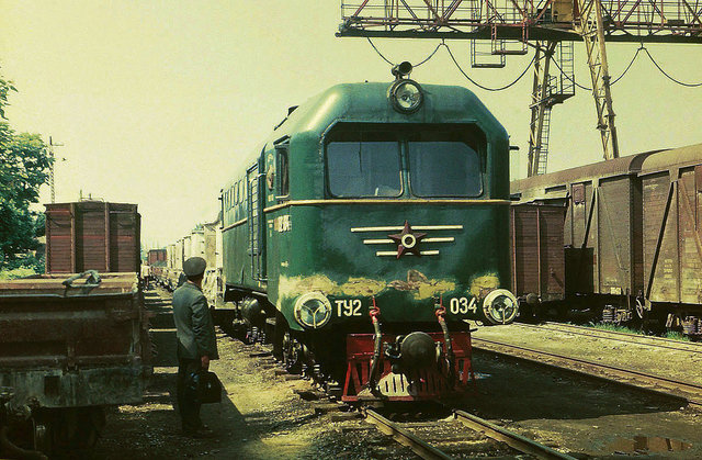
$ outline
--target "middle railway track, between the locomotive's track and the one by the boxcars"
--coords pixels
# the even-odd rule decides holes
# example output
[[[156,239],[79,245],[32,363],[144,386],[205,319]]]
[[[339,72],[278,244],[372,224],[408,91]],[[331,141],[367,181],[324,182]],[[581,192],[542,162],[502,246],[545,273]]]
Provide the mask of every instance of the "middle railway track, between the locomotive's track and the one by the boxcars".
[[[473,338],[473,348],[556,369],[567,369],[659,395],[678,397],[690,406],[702,409],[702,385],[695,383],[483,338]]]

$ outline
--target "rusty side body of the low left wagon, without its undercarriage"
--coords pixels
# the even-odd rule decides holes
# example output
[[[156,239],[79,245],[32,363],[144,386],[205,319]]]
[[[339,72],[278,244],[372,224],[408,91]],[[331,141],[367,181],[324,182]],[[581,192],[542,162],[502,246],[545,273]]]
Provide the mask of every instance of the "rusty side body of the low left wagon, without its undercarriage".
[[[64,277],[0,283],[0,386],[9,408],[136,403],[150,344],[136,273],[95,287]]]

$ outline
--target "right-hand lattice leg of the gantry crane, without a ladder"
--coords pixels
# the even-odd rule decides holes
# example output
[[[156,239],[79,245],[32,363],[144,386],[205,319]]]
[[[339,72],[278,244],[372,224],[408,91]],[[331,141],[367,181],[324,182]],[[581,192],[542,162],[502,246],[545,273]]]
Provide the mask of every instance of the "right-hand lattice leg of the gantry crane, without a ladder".
[[[604,159],[619,158],[619,143],[614,126],[610,74],[604,46],[604,25],[600,0],[577,0],[580,13],[576,31],[582,36],[592,78],[592,96],[597,109],[597,128],[602,137]]]

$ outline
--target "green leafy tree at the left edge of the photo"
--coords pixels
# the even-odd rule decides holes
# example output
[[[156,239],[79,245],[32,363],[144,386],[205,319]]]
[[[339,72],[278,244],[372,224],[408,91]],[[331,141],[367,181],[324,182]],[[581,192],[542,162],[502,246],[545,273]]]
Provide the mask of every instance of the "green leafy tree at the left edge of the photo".
[[[38,134],[15,134],[3,121],[12,90],[12,83],[0,78],[0,269],[36,265],[27,253],[37,248],[44,220],[30,205],[38,202],[53,161]]]

